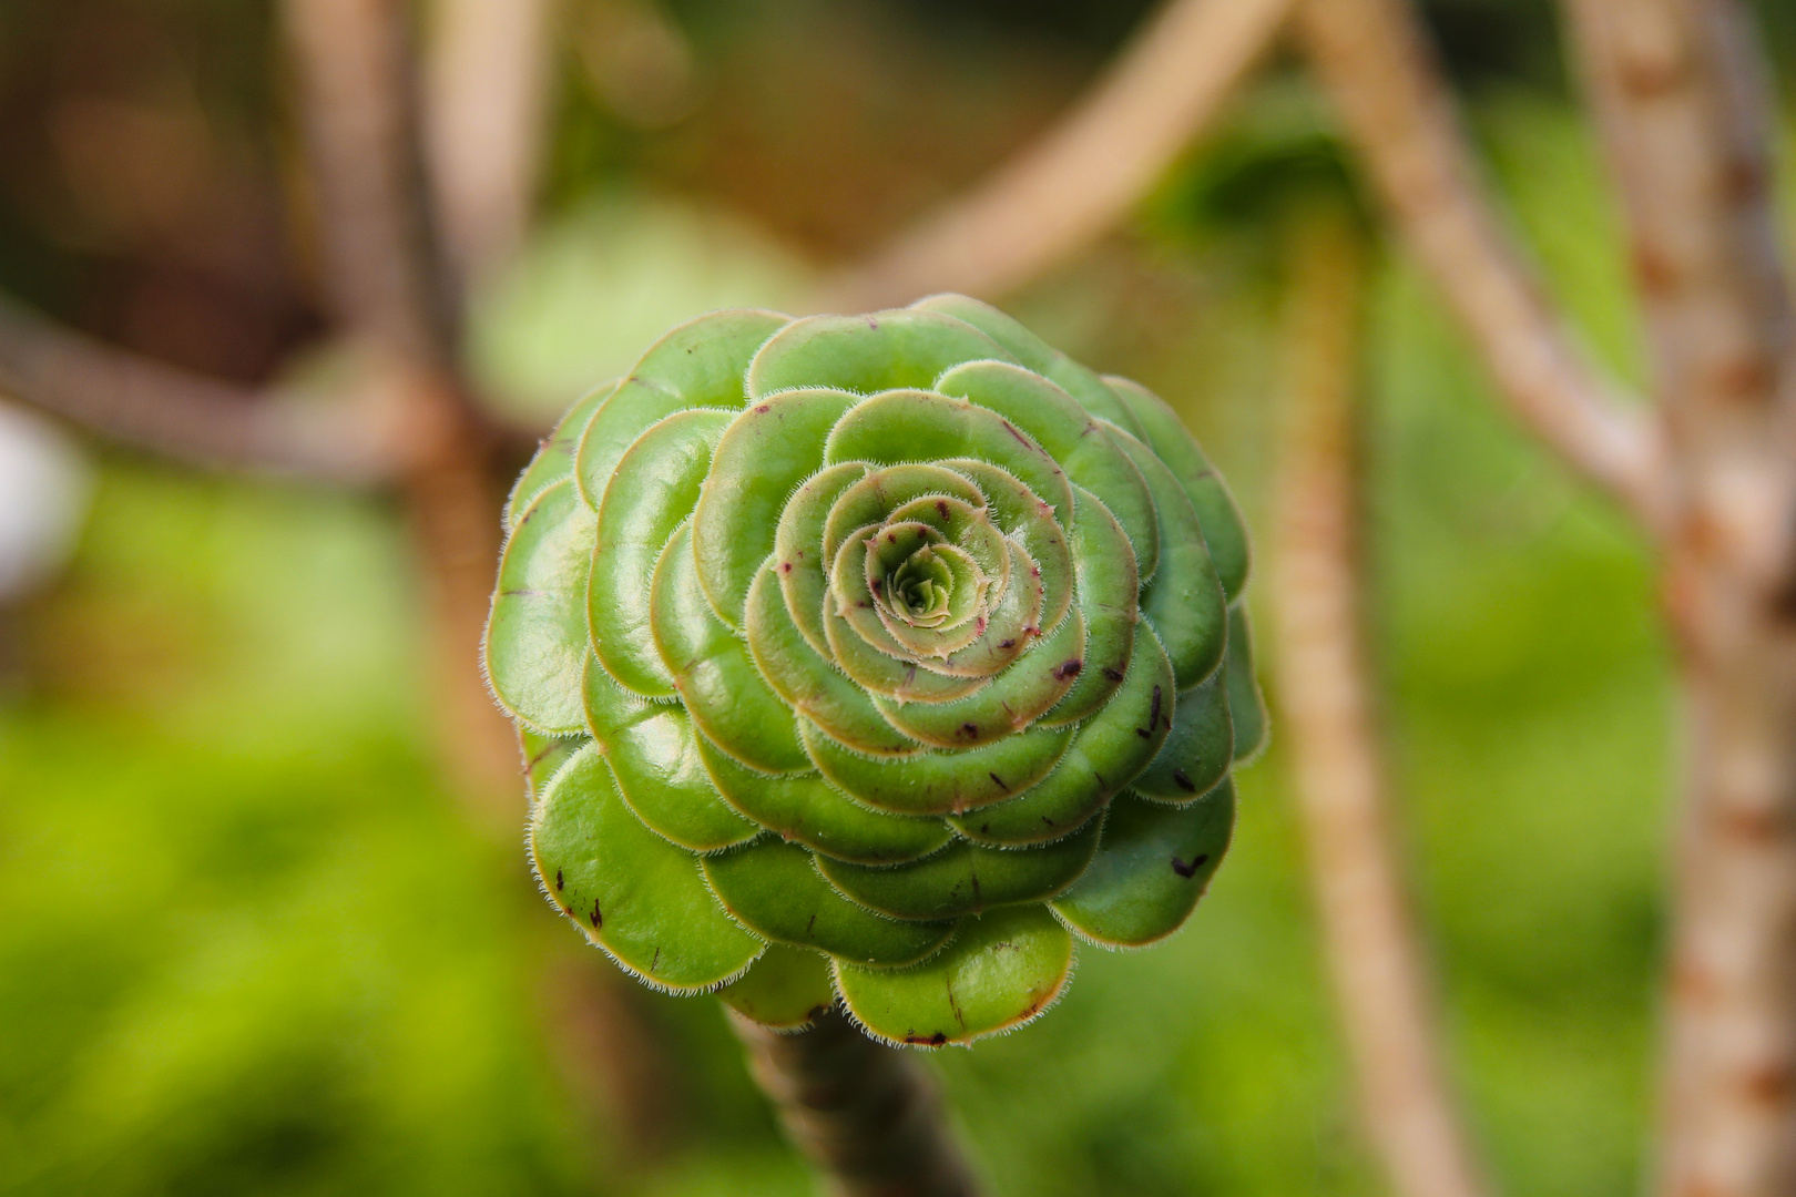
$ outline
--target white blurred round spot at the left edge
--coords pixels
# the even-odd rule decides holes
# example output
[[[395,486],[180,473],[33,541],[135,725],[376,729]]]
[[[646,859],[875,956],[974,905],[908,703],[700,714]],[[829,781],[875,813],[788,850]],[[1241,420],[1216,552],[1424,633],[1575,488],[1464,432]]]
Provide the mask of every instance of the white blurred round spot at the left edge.
[[[0,400],[0,601],[54,574],[74,553],[93,470],[48,420]]]

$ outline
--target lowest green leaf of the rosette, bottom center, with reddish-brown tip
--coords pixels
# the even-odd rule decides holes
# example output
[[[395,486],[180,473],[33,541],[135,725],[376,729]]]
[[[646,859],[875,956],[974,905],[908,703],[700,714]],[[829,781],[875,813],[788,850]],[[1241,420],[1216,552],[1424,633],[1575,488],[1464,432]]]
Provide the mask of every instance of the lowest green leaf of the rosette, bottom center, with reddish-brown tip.
[[[1022,1027],[1072,973],[1072,937],[1040,906],[963,919],[943,951],[911,969],[835,964],[842,1001],[887,1043],[943,1046]]]

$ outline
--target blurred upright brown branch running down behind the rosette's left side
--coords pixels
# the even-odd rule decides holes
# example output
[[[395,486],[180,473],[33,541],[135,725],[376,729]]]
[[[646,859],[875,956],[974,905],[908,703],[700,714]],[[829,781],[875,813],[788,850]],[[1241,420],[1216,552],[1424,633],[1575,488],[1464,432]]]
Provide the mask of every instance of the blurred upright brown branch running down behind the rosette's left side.
[[[417,445],[402,488],[435,616],[445,759],[485,809],[514,811],[515,745],[476,666],[499,494],[485,425],[458,373],[449,269],[422,170],[408,5],[287,0],[284,20],[330,291],[395,380]]]

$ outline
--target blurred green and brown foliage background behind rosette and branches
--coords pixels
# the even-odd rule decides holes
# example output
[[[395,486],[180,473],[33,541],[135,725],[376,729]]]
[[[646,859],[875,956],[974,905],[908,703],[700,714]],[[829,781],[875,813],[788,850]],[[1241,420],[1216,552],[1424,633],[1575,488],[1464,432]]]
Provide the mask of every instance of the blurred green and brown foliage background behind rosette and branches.
[[[546,424],[686,316],[799,303],[1045,127],[1144,11],[562,0],[532,230],[469,298],[483,391]],[[1510,215],[1638,379],[1552,7],[1426,14]],[[1796,22],[1765,22],[1789,63]],[[7,0],[0,287],[212,375],[304,370],[327,318],[291,92],[264,0]],[[1275,63],[1126,228],[1004,296],[1173,402],[1263,528],[1266,214],[1316,179],[1351,194]],[[1376,660],[1455,1080],[1509,1192],[1633,1193],[1676,765],[1649,553],[1372,249]],[[390,497],[171,467],[0,397],[0,1193],[810,1192],[717,1005],[612,980],[449,797],[418,585]],[[1184,933],[1085,949],[1031,1030],[932,1061],[995,1192],[1381,1192],[1277,725],[1241,793]]]

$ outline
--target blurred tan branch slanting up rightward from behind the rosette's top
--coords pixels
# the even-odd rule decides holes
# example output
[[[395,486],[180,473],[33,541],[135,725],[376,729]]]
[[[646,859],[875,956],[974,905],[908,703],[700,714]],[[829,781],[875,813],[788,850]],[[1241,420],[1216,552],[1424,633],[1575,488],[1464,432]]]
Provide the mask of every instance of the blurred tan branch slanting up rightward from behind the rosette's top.
[[[1291,0],[1173,0],[1060,124],[826,287],[867,310],[932,291],[997,296],[1112,228],[1216,117]]]

